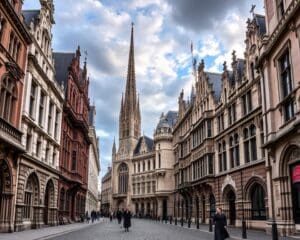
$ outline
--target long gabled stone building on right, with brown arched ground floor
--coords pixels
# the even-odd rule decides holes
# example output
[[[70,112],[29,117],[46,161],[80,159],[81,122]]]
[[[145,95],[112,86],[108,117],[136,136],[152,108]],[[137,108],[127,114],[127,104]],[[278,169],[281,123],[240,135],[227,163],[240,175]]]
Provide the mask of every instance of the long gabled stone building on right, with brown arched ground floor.
[[[264,17],[248,21],[245,59],[232,54],[222,74],[194,64],[191,100],[179,97],[174,127],[175,217],[208,223],[222,207],[228,224],[265,228],[267,185],[262,151],[261,77],[255,70]],[[262,224],[263,223],[263,224]]]

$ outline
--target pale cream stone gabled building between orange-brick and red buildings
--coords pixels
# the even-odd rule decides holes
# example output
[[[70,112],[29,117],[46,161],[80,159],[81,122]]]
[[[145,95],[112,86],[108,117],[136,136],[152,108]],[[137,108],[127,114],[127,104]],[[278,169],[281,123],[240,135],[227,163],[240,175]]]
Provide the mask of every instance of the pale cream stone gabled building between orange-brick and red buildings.
[[[52,0],[40,10],[23,11],[33,43],[22,108],[22,144],[16,202],[17,231],[57,224],[57,190],[63,89],[54,76]]]

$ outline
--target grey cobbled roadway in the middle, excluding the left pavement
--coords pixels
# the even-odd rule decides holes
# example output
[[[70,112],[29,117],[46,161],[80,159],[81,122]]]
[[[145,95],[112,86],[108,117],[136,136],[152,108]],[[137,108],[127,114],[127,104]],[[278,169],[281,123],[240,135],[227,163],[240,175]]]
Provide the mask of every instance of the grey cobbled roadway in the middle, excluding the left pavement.
[[[110,223],[108,220],[90,227],[67,233],[61,236],[55,236],[53,240],[199,240],[213,239],[213,234],[207,231],[207,226],[201,226],[200,230],[188,229],[170,224],[162,224],[148,220],[133,219],[132,228],[129,233],[125,233],[116,222]],[[230,229],[232,238],[240,239],[240,229]],[[267,240],[271,239],[260,231],[248,231],[248,239]],[[292,239],[292,238],[281,238]]]

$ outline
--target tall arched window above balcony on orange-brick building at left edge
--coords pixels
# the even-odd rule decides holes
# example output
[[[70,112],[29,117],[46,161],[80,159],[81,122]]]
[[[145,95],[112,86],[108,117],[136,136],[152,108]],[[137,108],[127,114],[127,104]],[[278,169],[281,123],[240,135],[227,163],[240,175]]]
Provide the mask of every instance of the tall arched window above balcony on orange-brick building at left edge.
[[[12,122],[17,100],[16,83],[11,78],[5,77],[0,84],[0,117]]]

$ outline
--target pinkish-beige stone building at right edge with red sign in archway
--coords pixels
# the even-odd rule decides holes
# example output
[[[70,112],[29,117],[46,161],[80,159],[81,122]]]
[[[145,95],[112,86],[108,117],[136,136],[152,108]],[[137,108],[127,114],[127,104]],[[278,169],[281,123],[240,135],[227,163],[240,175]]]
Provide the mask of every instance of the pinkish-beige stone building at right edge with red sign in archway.
[[[280,235],[300,231],[300,2],[266,0],[266,35],[258,46],[262,76],[269,221]]]

